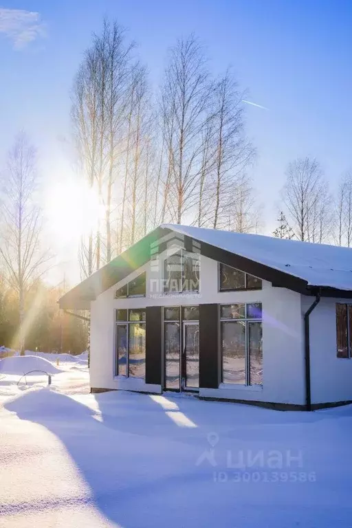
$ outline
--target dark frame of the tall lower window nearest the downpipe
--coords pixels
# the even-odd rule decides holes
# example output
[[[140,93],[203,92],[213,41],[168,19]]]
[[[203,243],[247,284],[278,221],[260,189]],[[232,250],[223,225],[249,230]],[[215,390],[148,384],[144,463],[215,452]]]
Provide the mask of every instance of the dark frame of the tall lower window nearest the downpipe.
[[[250,318],[248,317],[248,305],[261,305],[261,318]],[[245,306],[245,317],[244,318],[223,318],[221,317],[221,307],[231,305],[244,305]],[[243,322],[245,327],[245,383],[231,383],[223,381],[223,322]],[[263,339],[263,303],[261,301],[254,301],[252,303],[223,303],[219,305],[219,337],[220,337],[220,383],[234,387],[263,387],[263,375],[261,384],[250,383],[250,332],[249,325],[251,322],[260,322],[262,329]],[[262,367],[263,367],[263,341],[262,341]]]

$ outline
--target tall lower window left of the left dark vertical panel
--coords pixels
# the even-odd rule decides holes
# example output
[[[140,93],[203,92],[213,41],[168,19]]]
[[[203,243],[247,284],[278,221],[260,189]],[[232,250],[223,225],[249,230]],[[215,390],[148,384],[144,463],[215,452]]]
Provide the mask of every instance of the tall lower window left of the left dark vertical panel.
[[[145,377],[145,309],[116,310],[116,375]]]

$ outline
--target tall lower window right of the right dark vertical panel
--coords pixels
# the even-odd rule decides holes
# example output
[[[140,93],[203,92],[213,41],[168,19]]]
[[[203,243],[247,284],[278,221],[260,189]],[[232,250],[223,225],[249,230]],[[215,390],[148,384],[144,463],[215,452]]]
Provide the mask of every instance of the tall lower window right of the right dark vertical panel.
[[[263,383],[261,303],[220,307],[223,383]]]

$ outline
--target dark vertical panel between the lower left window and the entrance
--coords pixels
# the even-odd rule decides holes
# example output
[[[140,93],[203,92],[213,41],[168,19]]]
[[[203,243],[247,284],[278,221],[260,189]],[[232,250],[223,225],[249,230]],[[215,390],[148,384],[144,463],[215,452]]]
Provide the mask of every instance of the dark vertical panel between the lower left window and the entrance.
[[[162,307],[146,308],[146,383],[162,384]]]

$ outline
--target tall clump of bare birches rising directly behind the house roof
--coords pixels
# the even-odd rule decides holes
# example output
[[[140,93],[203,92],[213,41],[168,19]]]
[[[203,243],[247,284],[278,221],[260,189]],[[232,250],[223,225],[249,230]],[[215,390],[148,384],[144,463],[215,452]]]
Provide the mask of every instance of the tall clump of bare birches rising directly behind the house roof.
[[[104,222],[81,244],[84,276],[158,223],[258,225],[244,173],[254,151],[230,72],[214,83],[197,39],[177,41],[156,118],[146,69],[132,50],[120,26],[105,21],[74,83],[78,152],[104,208]]]

